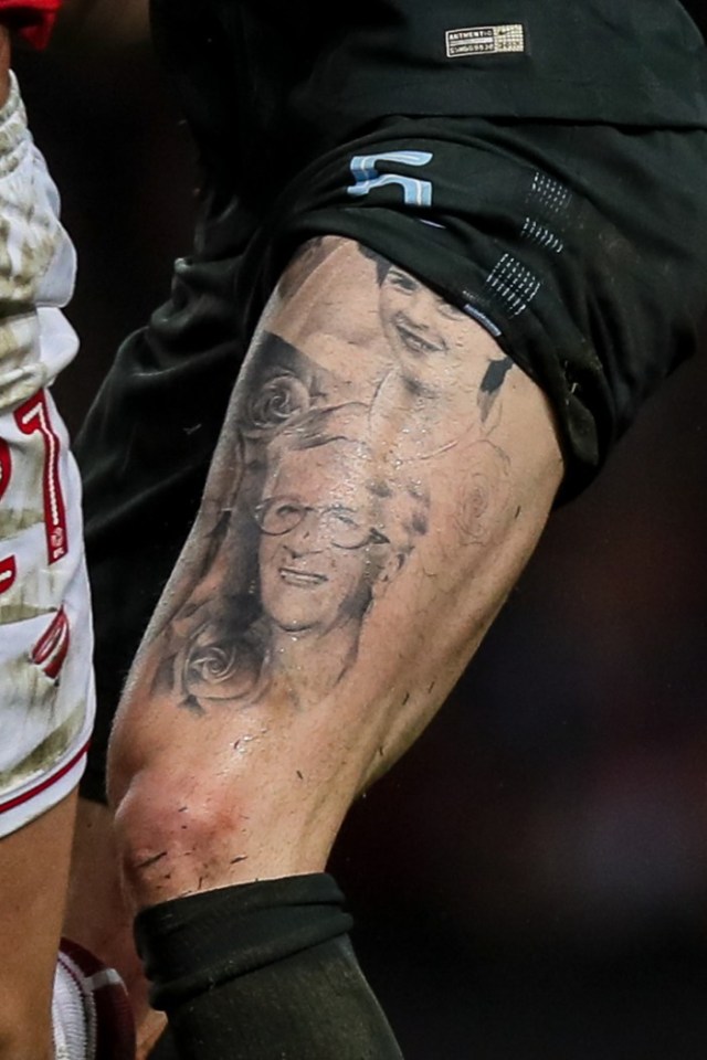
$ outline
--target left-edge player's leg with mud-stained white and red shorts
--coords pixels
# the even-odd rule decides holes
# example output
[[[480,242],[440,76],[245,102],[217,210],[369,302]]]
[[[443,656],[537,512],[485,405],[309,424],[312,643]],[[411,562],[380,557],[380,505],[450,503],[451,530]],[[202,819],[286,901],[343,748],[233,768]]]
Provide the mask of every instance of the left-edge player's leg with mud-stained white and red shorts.
[[[57,963],[93,720],[78,473],[48,390],[77,347],[74,255],[0,41],[0,1057],[128,1060],[122,987],[77,950]]]

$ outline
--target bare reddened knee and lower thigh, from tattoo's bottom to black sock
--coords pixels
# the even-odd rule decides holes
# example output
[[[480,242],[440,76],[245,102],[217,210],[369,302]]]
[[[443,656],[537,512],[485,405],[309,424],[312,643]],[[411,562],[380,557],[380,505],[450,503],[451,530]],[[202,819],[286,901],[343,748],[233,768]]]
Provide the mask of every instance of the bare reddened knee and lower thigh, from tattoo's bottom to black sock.
[[[144,685],[122,704],[109,754],[130,904],[321,871],[351,785],[331,768],[318,716],[266,704],[257,719],[196,717],[163,710]]]

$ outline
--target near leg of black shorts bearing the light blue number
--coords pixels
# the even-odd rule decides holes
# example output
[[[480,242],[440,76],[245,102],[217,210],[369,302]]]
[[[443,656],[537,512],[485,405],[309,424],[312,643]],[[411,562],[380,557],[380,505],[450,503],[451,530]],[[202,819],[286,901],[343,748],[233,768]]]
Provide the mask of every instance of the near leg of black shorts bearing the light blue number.
[[[370,187],[354,197],[357,168]],[[546,392],[568,499],[696,347],[706,177],[701,129],[388,118],[283,193],[238,299],[252,330],[314,235],[389,257],[486,327]]]

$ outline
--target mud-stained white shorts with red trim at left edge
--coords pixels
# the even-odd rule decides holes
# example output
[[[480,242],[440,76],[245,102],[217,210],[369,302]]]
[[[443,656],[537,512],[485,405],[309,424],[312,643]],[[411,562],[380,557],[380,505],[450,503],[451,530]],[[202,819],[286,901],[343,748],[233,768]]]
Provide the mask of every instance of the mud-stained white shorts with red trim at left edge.
[[[49,393],[75,356],[75,255],[17,82],[0,110],[0,838],[85,767],[93,635],[81,487]]]

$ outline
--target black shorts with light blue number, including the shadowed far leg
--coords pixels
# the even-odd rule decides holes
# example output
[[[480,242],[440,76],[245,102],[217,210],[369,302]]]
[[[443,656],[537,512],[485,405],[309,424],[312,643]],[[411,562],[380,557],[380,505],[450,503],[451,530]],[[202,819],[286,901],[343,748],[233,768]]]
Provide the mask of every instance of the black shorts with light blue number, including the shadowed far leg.
[[[89,797],[103,797],[120,686],[196,515],[250,337],[305,240],[357,240],[487,328],[548,395],[563,497],[694,349],[707,303],[705,130],[383,115],[331,146],[334,132],[282,186],[277,151],[267,156],[258,209],[229,199],[228,168],[213,178],[193,259],[123,346],[77,439],[97,639]]]

